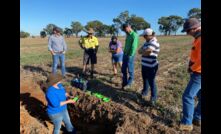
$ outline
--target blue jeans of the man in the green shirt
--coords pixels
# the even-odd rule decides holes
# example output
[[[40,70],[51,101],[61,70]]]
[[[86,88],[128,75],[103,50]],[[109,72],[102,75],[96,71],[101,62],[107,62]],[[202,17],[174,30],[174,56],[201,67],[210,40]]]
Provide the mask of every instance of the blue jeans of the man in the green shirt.
[[[127,70],[129,73],[129,78],[127,78]],[[134,56],[123,56],[123,64],[121,68],[123,74],[122,86],[131,85],[134,79]]]

